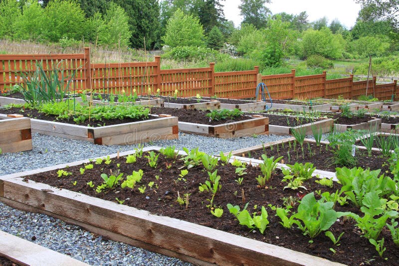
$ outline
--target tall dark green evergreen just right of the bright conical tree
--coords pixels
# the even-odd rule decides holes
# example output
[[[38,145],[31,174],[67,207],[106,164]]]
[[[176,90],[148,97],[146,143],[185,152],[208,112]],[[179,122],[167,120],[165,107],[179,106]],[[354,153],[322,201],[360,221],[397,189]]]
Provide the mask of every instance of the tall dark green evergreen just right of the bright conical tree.
[[[113,0],[125,9],[129,18],[129,26],[132,35],[130,42],[135,48],[152,47],[157,41],[159,34],[160,8],[158,0]]]

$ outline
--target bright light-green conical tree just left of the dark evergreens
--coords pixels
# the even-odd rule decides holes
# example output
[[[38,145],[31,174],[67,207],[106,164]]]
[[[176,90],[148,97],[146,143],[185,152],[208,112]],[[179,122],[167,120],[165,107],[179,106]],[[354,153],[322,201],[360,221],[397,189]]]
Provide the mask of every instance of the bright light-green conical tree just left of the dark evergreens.
[[[131,36],[128,20],[125,10],[116,3],[111,2],[105,12],[103,23],[99,23],[99,43],[114,47],[128,46]]]

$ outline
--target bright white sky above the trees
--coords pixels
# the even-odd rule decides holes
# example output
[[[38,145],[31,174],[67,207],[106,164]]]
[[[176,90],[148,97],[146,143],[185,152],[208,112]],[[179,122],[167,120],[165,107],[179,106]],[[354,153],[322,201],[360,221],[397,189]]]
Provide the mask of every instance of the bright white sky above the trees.
[[[242,17],[239,15],[238,5],[240,0],[221,1],[224,5],[224,16],[227,20],[234,21],[234,25],[241,23]],[[299,14],[306,11],[309,15],[309,22],[315,21],[323,16],[329,19],[329,23],[338,18],[341,24],[348,29],[353,27],[358,17],[360,4],[355,0],[272,0],[266,6],[273,14],[286,12],[288,14]]]

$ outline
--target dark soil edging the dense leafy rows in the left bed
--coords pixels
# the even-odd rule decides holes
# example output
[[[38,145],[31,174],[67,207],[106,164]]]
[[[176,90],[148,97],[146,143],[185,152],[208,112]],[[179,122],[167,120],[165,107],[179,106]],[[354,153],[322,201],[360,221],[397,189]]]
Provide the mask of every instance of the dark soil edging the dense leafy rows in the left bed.
[[[111,119],[111,120],[102,120],[102,121],[85,120],[81,124],[76,124],[72,118],[70,120],[57,119],[57,116],[39,113],[36,109],[21,109],[21,108],[15,108],[15,107],[9,108],[9,109],[2,108],[2,109],[0,109],[0,114],[5,114],[5,115],[21,114],[25,117],[29,117],[29,118],[33,118],[33,119],[40,119],[40,120],[45,120],[45,121],[54,121],[54,122],[73,124],[73,125],[82,125],[82,126],[90,125],[90,127],[94,127],[94,128],[157,119],[157,117],[149,116],[148,119],[126,118],[126,119],[122,119],[122,120]]]

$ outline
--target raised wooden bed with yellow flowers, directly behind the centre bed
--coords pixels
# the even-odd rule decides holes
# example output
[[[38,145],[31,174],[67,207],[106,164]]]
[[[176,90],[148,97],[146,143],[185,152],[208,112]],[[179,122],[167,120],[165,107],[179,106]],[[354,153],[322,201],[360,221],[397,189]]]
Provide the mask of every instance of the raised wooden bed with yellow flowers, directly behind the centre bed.
[[[220,102],[213,100],[197,100],[193,98],[175,98],[161,96],[164,100],[162,107],[189,109],[189,110],[217,110],[220,109]]]

